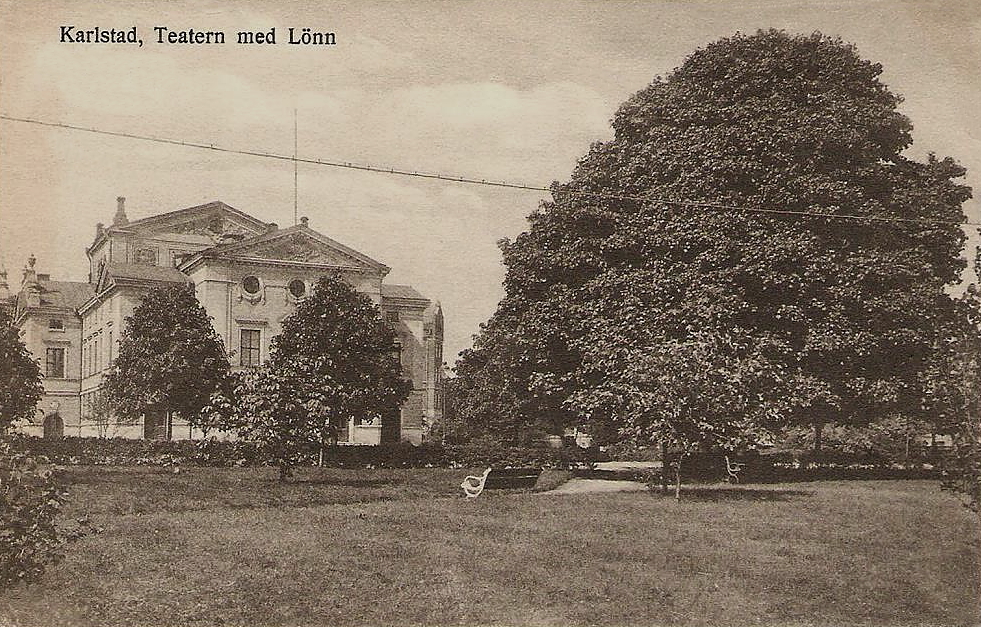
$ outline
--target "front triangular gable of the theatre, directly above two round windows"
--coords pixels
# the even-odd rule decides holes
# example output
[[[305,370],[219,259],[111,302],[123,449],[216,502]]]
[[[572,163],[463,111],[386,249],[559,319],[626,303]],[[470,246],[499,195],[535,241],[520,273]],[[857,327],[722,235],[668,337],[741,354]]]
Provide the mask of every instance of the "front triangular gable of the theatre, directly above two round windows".
[[[301,263],[387,274],[388,266],[300,225],[201,251],[208,258]]]

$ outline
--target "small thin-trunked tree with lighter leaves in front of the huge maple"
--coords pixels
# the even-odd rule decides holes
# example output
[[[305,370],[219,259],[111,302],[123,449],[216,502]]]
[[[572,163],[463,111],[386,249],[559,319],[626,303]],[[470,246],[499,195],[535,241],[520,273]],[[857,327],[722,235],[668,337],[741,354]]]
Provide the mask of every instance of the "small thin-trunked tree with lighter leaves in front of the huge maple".
[[[585,353],[596,380],[570,405],[597,424],[617,424],[622,443],[660,445],[664,464],[663,453],[674,449],[675,498],[688,455],[769,439],[794,402],[781,370],[736,333],[699,331],[628,349],[611,344],[619,338],[596,340]],[[662,476],[667,471],[665,465]]]

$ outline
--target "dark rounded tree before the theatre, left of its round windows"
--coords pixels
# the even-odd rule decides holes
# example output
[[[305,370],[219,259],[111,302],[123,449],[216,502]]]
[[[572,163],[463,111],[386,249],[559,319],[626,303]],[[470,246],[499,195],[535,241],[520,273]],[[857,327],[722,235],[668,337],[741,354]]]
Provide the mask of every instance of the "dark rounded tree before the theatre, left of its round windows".
[[[228,372],[224,343],[193,287],[158,287],[126,319],[105,394],[124,417],[164,411],[195,424]]]

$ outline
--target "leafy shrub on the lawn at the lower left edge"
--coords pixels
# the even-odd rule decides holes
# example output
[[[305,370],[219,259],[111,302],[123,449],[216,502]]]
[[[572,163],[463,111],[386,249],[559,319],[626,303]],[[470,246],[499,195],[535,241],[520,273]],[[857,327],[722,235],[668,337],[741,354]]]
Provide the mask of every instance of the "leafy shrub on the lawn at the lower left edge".
[[[55,518],[66,493],[46,461],[0,442],[0,590],[37,581],[64,557]]]

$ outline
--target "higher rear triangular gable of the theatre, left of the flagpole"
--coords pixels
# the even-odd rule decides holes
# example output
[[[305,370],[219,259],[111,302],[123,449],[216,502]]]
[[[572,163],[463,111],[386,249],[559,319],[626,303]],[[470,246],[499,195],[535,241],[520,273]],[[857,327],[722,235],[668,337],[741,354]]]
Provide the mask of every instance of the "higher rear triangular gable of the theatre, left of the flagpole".
[[[270,226],[221,201],[215,201],[135,220],[124,228],[143,236],[164,233],[195,234],[217,241],[219,236],[225,234],[252,237],[268,231]]]

